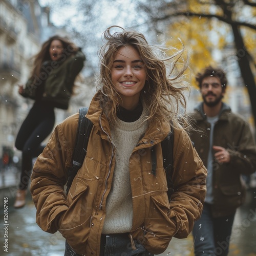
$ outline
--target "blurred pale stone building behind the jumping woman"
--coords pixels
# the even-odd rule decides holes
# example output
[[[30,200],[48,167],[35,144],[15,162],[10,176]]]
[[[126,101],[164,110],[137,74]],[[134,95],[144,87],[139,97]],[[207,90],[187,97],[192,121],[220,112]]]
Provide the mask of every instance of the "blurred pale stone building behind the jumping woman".
[[[40,50],[42,42],[54,34],[69,35],[65,28],[51,24],[50,9],[41,7],[37,0],[0,1],[0,159],[6,151],[15,153],[17,131],[33,103],[18,94],[18,84],[26,83],[33,65],[32,57]],[[80,80],[80,86],[84,88],[84,81]],[[92,86],[90,88],[90,92],[93,91]],[[81,95],[87,95],[86,99],[90,93],[79,92],[78,98]],[[56,122],[77,112],[80,105],[89,101],[72,102],[77,103],[77,107],[66,112],[56,110]]]

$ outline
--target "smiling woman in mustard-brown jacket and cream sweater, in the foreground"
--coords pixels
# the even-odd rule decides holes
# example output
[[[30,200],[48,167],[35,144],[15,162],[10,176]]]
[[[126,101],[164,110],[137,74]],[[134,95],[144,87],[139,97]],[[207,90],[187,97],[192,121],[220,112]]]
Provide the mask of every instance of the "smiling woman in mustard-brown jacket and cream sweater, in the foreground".
[[[178,78],[186,65],[173,78],[165,61],[175,65],[175,56],[158,56],[143,34],[115,26],[103,35],[97,93],[87,113],[93,123],[87,156],[66,196],[75,114],[56,127],[35,162],[30,190],[36,221],[66,238],[66,256],[153,256],[174,236],[187,237],[206,191],[206,169],[176,116],[186,88]],[[169,201],[161,142],[171,131]]]

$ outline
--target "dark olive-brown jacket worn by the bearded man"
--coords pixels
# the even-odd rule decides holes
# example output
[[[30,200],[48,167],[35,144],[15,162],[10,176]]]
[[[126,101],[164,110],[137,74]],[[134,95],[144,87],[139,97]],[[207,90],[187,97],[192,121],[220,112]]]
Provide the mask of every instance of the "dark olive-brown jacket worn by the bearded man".
[[[207,166],[210,124],[203,113],[203,103],[190,115],[196,131],[191,132],[191,141]],[[214,127],[213,145],[222,146],[230,154],[230,162],[213,164],[212,214],[215,217],[233,213],[245,198],[245,186],[241,175],[250,175],[256,170],[256,150],[250,127],[245,120],[231,112],[225,103]]]

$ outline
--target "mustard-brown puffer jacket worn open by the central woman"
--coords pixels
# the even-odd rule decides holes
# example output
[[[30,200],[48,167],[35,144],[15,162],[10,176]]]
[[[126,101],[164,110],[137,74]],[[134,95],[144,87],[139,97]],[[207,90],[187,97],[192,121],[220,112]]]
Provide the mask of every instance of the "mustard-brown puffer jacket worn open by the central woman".
[[[93,100],[87,117],[94,123],[86,159],[66,197],[64,185],[76,137],[78,114],[53,132],[37,158],[31,180],[36,222],[50,233],[57,230],[78,254],[99,255],[100,236],[115,167],[115,147],[110,126]],[[130,158],[133,197],[131,236],[151,253],[163,252],[173,237],[186,238],[202,212],[206,169],[185,132],[174,132],[174,193],[168,202],[161,141],[168,134],[152,121]],[[156,145],[156,176],[151,173],[151,147]],[[143,153],[143,154],[142,154]]]

